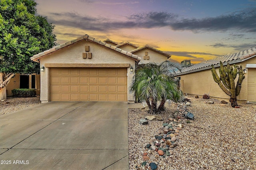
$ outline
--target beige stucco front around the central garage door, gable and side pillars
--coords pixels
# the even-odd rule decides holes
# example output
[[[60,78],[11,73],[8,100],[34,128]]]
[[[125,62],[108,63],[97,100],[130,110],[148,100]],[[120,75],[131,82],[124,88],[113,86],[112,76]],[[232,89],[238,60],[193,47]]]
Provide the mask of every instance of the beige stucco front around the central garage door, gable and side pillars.
[[[85,47],[89,50],[85,51]],[[91,58],[83,58],[83,53],[91,53]],[[126,68],[127,88],[132,82],[134,72],[130,72],[130,66],[135,67],[135,60],[118,51],[99,45],[98,43],[83,39],[72,45],[63,47],[54,53],[50,53],[40,59],[40,65],[44,65],[41,72],[41,95],[42,103],[50,101],[50,68]],[[133,94],[128,92],[128,102],[134,101]]]

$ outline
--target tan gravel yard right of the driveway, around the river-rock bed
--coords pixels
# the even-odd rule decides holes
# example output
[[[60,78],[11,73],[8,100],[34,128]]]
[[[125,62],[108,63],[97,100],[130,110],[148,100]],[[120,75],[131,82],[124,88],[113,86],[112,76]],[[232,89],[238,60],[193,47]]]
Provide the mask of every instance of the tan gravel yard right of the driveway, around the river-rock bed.
[[[141,125],[139,120],[148,113],[140,109],[128,110],[130,170],[149,170],[150,162],[158,166],[157,170],[256,169],[256,105],[242,104],[240,108],[232,108],[230,103],[220,104],[216,99],[190,98],[188,110],[194,113],[194,120],[182,119],[180,123],[184,128],[176,136],[178,146],[169,149],[173,152],[170,156],[158,156],[158,152],[146,147],[154,145],[163,121]],[[159,114],[164,120],[177,108],[175,104],[166,104],[166,107],[166,111]],[[143,155],[150,159],[143,160]]]

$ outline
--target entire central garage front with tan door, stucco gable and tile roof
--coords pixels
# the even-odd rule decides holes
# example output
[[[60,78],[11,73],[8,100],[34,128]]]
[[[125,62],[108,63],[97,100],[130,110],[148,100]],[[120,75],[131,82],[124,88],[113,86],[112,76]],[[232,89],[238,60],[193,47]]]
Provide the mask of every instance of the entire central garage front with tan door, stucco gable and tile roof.
[[[49,101],[134,102],[129,93],[141,58],[89,35],[58,45],[30,58],[40,62],[42,103]]]

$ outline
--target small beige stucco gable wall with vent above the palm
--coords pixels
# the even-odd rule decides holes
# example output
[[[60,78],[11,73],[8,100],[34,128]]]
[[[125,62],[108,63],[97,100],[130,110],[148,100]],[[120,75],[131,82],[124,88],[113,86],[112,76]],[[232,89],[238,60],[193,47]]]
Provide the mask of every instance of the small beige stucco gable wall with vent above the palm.
[[[148,52],[148,56],[149,56],[149,60],[147,59],[143,59],[143,56],[145,55],[145,52]],[[139,57],[142,58],[140,63],[150,63],[150,62],[154,62],[154,63],[162,63],[163,61],[167,60],[167,56],[162,55],[161,53],[158,53],[152,49],[142,49],[140,51],[136,51],[133,54],[138,55]]]

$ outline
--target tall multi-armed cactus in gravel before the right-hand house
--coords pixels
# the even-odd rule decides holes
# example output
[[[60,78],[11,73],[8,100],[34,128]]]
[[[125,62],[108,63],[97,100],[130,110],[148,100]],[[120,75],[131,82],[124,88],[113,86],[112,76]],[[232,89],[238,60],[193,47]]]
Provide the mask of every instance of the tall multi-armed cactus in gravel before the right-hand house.
[[[230,96],[230,103],[232,107],[238,106],[236,102],[236,96],[240,93],[242,87],[242,81],[244,80],[244,72],[242,66],[236,66],[234,64],[234,68],[230,66],[228,63],[227,66],[223,66],[222,62],[220,62],[220,77],[218,76],[214,66],[212,65],[212,76],[213,79],[220,88]],[[235,86],[235,79],[238,74],[238,80]]]

